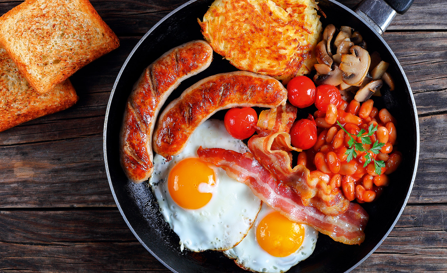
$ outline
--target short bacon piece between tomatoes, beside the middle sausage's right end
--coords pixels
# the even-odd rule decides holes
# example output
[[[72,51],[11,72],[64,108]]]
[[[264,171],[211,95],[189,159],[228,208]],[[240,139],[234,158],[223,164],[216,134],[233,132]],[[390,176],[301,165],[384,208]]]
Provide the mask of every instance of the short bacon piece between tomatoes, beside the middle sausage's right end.
[[[297,108],[287,102],[273,109],[267,109],[259,114],[256,132],[265,136],[272,132],[289,132],[295,122]]]

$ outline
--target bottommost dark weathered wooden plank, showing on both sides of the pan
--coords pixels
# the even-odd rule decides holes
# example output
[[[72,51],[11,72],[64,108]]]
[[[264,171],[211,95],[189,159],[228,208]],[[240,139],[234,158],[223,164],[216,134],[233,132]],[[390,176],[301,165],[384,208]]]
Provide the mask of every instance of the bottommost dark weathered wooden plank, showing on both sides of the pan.
[[[447,206],[407,207],[380,248],[353,272],[445,269],[446,223]],[[3,211],[0,253],[4,271],[170,272],[139,244],[117,210]]]

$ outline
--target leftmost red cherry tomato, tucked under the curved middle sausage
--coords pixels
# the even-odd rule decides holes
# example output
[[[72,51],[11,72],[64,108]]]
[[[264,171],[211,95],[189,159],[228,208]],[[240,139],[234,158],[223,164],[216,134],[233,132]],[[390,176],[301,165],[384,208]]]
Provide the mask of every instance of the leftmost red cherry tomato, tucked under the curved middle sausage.
[[[247,139],[256,131],[257,113],[251,107],[232,108],[223,118],[225,129],[235,139]]]

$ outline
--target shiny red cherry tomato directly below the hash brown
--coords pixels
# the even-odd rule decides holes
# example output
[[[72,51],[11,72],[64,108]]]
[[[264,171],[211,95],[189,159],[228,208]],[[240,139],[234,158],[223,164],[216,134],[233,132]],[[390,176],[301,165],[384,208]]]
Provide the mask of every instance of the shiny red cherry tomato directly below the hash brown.
[[[315,84],[306,76],[298,76],[287,84],[287,97],[292,105],[305,108],[315,102]]]

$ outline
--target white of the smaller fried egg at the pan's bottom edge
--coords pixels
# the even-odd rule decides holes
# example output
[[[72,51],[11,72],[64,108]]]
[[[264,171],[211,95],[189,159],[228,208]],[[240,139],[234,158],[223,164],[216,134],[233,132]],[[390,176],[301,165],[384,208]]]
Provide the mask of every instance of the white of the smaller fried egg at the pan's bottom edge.
[[[223,254],[234,259],[240,267],[261,273],[286,272],[292,266],[308,258],[315,249],[318,231],[308,225],[304,227],[304,240],[299,249],[289,256],[275,257],[270,255],[257,243],[256,229],[262,219],[274,212],[266,203],[262,204],[261,211],[257,215],[253,227],[245,238],[234,248],[224,251]]]

